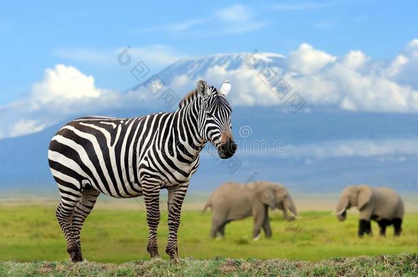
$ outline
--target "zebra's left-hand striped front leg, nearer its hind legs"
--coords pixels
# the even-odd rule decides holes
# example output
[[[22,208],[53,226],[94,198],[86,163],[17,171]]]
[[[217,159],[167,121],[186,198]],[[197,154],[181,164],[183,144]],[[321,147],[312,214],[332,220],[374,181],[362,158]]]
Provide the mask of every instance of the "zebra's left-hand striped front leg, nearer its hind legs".
[[[155,258],[160,256],[157,244],[157,228],[160,223],[160,185],[145,183],[143,185],[143,194],[149,228],[147,251],[151,258]]]

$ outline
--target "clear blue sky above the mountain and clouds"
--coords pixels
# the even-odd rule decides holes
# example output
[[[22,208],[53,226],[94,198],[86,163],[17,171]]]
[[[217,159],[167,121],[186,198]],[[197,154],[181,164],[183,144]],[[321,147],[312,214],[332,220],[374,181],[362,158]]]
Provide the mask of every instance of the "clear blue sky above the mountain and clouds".
[[[46,68],[75,66],[99,88],[134,80],[116,63],[126,45],[158,71],[177,58],[306,42],[337,57],[389,59],[418,38],[416,1],[8,1],[0,10],[0,105],[29,94]]]

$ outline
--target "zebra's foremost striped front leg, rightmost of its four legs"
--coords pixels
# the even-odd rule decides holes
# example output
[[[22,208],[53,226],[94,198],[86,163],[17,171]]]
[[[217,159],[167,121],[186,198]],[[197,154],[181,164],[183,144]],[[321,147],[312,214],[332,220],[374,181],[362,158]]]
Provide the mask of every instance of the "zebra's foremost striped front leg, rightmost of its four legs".
[[[178,258],[177,248],[177,230],[180,226],[180,213],[184,197],[186,196],[188,183],[179,185],[178,187],[169,188],[169,239],[165,252],[169,254],[170,259]]]

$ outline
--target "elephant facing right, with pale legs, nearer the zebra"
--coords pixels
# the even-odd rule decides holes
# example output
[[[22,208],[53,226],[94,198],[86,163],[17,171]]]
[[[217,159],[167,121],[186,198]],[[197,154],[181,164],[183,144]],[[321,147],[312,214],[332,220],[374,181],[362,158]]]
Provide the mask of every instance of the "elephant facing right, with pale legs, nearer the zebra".
[[[254,239],[260,236],[261,228],[266,237],[271,237],[269,207],[283,211],[286,220],[293,220],[297,212],[286,187],[268,181],[239,185],[225,183],[210,196],[204,211],[212,207],[212,230],[210,237],[225,235],[225,225],[234,220],[254,217]]]

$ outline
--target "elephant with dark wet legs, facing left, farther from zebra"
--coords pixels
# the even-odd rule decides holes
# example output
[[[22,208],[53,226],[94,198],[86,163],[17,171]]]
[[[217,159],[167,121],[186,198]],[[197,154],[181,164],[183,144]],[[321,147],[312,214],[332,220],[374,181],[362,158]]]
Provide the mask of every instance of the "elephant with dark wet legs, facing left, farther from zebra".
[[[404,218],[404,202],[389,187],[370,187],[368,185],[352,185],[346,187],[336,205],[336,217],[343,221],[347,217],[347,209],[357,207],[360,211],[358,236],[365,233],[371,235],[370,220],[378,222],[380,235],[386,235],[386,226],[393,225],[395,236],[402,232]]]

